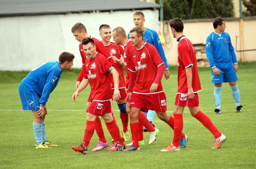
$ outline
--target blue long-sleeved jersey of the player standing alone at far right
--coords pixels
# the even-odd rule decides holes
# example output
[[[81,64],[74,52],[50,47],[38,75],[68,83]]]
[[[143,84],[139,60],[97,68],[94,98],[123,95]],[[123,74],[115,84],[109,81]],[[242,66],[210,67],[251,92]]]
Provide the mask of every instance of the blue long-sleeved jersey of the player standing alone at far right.
[[[212,32],[206,38],[205,49],[211,68],[216,67],[216,62],[232,60],[233,64],[237,64],[234,47],[227,32],[222,32],[220,35]]]

